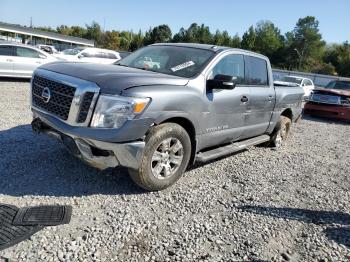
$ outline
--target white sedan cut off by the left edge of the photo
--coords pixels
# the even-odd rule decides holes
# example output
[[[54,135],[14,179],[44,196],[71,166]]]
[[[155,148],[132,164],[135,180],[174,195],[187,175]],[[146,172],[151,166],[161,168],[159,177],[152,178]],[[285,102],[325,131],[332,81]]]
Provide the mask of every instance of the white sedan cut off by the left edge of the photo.
[[[57,58],[29,45],[0,43],[0,77],[31,78],[40,65]]]

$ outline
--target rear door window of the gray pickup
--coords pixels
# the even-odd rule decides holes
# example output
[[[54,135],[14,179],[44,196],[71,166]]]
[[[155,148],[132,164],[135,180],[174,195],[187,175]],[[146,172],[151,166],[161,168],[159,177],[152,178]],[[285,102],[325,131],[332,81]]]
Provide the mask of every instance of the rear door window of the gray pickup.
[[[247,85],[267,86],[267,64],[264,59],[245,56],[245,82]]]

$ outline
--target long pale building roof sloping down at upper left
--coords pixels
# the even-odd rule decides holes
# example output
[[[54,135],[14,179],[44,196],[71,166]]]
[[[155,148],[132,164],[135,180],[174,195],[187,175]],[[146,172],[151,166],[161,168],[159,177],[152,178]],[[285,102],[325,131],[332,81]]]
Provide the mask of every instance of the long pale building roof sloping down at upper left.
[[[41,37],[41,38],[57,40],[57,41],[66,42],[66,43],[77,44],[77,45],[94,46],[93,40],[88,40],[88,39],[75,37],[75,36],[61,35],[61,34],[52,33],[52,32],[41,31],[38,29],[30,28],[30,27],[7,24],[7,23],[3,23],[3,22],[0,22],[0,31],[35,36],[35,37]]]

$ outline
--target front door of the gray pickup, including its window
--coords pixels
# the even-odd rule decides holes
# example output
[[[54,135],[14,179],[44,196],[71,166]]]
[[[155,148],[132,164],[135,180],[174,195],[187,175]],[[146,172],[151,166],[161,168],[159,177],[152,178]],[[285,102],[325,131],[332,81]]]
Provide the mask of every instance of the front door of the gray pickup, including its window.
[[[213,66],[208,79],[213,79],[218,74],[237,77],[237,84],[232,90],[207,90],[208,110],[204,112],[202,147],[238,140],[244,131],[249,87],[243,84],[243,55],[229,54],[221,58]]]

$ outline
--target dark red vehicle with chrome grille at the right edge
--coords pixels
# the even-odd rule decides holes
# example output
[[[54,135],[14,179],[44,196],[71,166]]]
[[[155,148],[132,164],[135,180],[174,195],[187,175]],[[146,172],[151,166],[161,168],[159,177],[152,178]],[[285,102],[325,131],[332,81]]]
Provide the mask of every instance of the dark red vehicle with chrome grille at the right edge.
[[[350,120],[350,81],[331,81],[325,88],[315,89],[304,114]]]

